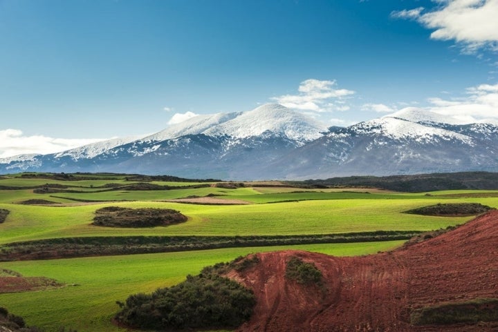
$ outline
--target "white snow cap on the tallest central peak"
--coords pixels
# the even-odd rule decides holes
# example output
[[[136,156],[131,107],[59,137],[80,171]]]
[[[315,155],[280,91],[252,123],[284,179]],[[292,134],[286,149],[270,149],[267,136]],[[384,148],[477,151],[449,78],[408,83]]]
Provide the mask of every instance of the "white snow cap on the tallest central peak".
[[[279,104],[265,104],[205,130],[205,135],[246,138],[272,133],[295,141],[311,141],[322,136],[326,126]]]

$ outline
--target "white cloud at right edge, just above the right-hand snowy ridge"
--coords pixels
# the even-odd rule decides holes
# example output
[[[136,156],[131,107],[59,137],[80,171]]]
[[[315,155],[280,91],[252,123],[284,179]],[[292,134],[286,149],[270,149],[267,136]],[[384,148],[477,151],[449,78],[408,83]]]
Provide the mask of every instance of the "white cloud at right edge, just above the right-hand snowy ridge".
[[[465,97],[445,100],[429,99],[431,106],[427,109],[442,115],[448,115],[461,121],[498,123],[498,84],[481,84],[467,89]]]

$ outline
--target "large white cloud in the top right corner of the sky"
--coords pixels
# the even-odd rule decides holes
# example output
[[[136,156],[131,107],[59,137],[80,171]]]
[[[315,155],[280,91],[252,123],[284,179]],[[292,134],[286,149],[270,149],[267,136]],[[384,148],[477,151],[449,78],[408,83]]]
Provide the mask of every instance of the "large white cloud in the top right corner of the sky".
[[[498,50],[498,0],[438,0],[440,6],[422,14],[420,8],[392,12],[391,17],[416,19],[434,29],[432,39],[454,40],[465,52]]]

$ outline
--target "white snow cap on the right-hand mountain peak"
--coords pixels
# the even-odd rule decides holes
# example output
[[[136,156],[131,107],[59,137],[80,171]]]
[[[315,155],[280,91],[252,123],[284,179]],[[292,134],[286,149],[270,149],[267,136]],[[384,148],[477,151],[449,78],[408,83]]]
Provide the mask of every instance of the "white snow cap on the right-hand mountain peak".
[[[431,141],[439,137],[445,141],[459,140],[472,145],[472,138],[467,135],[455,133],[451,130],[436,128],[417,122],[399,119],[398,117],[381,117],[349,127],[358,134],[382,135],[391,139],[411,139],[414,141]]]

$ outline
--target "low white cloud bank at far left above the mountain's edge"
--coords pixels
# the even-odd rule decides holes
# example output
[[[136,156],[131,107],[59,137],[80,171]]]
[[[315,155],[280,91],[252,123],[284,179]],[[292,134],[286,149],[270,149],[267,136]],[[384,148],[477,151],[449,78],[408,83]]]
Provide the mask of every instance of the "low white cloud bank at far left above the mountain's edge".
[[[64,139],[43,135],[26,136],[21,130],[0,130],[0,158],[30,153],[48,154],[77,148],[103,139]]]

